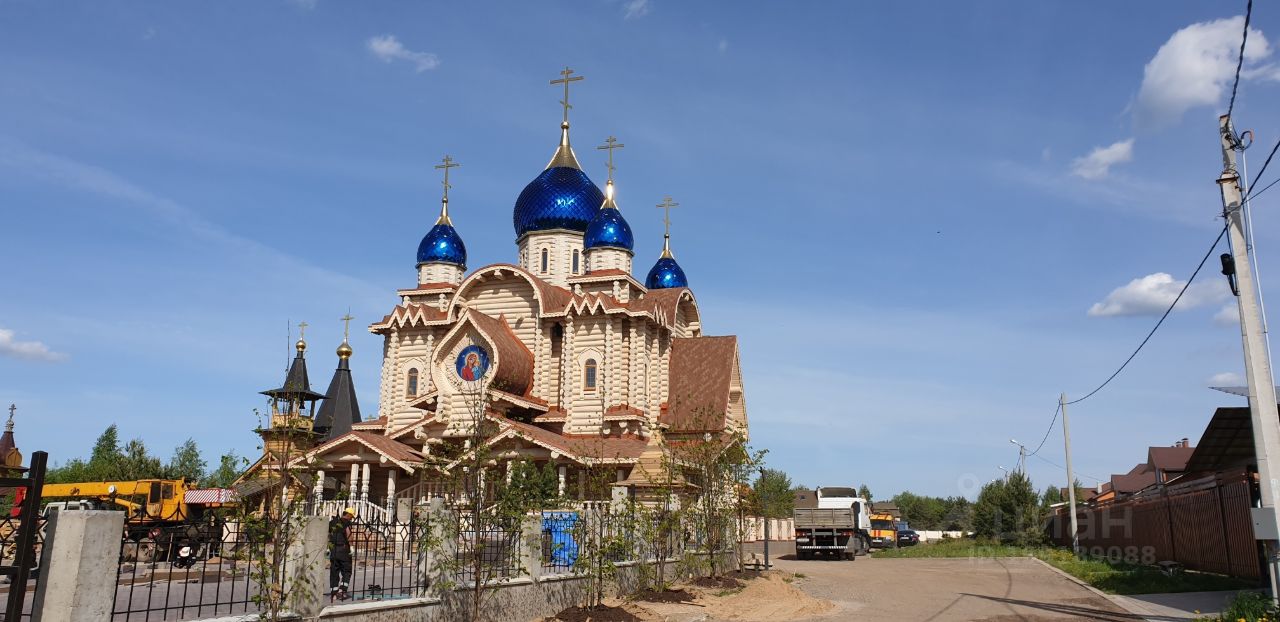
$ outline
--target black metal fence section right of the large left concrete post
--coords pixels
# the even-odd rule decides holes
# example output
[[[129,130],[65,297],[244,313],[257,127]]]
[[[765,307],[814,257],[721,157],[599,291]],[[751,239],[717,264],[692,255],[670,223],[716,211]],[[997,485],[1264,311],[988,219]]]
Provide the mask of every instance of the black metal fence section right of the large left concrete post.
[[[210,520],[155,527],[142,539],[122,538],[113,621],[257,612],[251,563],[265,555],[270,543],[242,527]]]

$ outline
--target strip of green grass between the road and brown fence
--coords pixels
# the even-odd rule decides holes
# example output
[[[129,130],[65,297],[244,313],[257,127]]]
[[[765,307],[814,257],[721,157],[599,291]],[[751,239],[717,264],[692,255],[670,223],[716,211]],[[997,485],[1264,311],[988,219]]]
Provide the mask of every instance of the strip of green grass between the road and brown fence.
[[[1164,594],[1257,587],[1257,584],[1252,581],[1222,575],[1185,571],[1170,577],[1151,566],[1078,558],[1070,550],[1060,548],[1011,546],[980,540],[942,540],[933,544],[879,550],[872,557],[1034,557],[1108,594]]]

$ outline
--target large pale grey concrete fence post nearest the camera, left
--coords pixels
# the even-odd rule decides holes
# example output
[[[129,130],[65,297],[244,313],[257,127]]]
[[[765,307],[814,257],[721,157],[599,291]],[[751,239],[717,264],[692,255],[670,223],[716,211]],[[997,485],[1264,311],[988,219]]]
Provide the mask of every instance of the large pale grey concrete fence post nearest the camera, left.
[[[32,621],[111,619],[124,512],[52,512],[46,529]]]

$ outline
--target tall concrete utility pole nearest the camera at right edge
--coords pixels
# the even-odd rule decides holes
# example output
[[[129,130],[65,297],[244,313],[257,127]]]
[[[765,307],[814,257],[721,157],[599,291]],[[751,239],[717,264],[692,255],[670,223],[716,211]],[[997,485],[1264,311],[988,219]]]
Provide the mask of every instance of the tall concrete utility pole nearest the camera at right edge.
[[[1280,459],[1280,413],[1276,412],[1275,380],[1262,333],[1262,312],[1258,308],[1257,287],[1249,267],[1249,251],[1244,241],[1240,174],[1235,168],[1235,146],[1239,143],[1231,118],[1219,116],[1219,138],[1222,146],[1222,174],[1217,178],[1222,191],[1222,218],[1226,219],[1228,237],[1234,259],[1235,294],[1240,310],[1240,339],[1244,343],[1244,372],[1249,384],[1249,415],[1253,421],[1253,451],[1258,462],[1258,488],[1262,507],[1254,508],[1253,523],[1258,540],[1263,540],[1266,564],[1271,578],[1271,599],[1280,598],[1280,516],[1276,498],[1280,497],[1280,472],[1272,458]],[[1224,264],[1228,261],[1224,259]],[[1226,266],[1224,266],[1226,267]],[[1226,271],[1226,270],[1224,270]]]

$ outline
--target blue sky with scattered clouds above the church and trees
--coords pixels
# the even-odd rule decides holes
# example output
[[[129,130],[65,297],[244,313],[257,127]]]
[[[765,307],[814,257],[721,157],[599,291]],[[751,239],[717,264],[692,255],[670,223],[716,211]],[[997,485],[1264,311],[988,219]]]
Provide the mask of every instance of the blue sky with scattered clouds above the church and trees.
[[[111,422],[163,454],[187,436],[251,454],[288,323],[311,324],[323,390],[349,307],[374,413],[364,326],[415,283],[431,166],[462,163],[471,266],[513,261],[567,64],[588,173],[605,177],[590,147],[626,145],[639,273],[653,206],[681,203],[673,250],[707,333],[741,339],[771,462],[969,494],[1128,356],[1216,235],[1235,4],[0,0],[0,402],[54,461]],[[1270,9],[1235,113],[1251,170],[1280,137]],[[1277,202],[1254,203],[1265,288]],[[1071,408],[1087,484],[1243,403],[1206,388],[1243,365],[1222,279],[1202,278]],[[1041,457],[1061,465],[1060,429]]]

